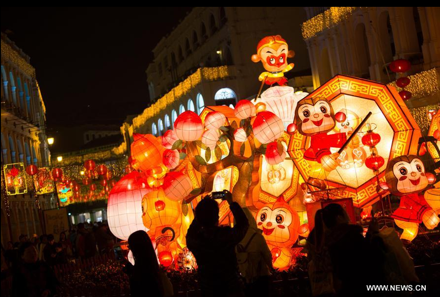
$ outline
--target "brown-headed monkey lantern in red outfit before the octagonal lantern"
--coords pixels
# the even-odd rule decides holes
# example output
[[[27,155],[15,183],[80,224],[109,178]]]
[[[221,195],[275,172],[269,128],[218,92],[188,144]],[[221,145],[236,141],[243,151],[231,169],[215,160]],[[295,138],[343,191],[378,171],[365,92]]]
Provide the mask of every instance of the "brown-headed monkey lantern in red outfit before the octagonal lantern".
[[[315,161],[307,183],[325,189],[325,172],[336,169],[338,153],[332,154],[331,147],[340,148],[347,140],[345,133],[327,134],[335,128],[336,121],[342,122],[344,113],[335,114],[332,104],[324,97],[305,98],[298,101],[295,122],[287,126],[287,132],[298,130],[301,135],[311,137],[310,147],[304,152],[304,159]]]

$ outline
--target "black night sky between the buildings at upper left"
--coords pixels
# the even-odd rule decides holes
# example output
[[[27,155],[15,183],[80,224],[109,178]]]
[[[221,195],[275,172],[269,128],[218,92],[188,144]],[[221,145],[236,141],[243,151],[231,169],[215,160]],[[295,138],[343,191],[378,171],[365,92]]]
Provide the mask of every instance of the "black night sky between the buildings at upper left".
[[[120,125],[149,102],[145,70],[157,42],[189,7],[1,8],[1,31],[30,56],[60,125]]]

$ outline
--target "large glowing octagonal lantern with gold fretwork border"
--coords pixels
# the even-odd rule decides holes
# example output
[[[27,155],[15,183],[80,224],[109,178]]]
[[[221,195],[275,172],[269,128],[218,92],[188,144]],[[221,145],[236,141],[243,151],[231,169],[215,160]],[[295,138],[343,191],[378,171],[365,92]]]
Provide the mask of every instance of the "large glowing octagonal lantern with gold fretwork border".
[[[350,133],[360,124],[368,112],[372,115],[368,123],[373,131],[381,136],[376,146],[377,153],[385,159],[379,168],[379,179],[385,181],[385,168],[388,160],[394,157],[414,154],[418,138],[421,136],[413,116],[394,87],[360,78],[336,75],[327,83],[313,91],[306,98],[325,97],[333,106],[335,113],[344,112],[347,118],[337,123],[328,134]],[[374,125],[373,125],[374,124]],[[359,140],[366,132],[363,127],[358,133]],[[288,146],[288,153],[304,180],[311,174],[312,161],[304,159],[311,137],[295,132]],[[352,143],[355,143],[353,141]],[[332,153],[337,148],[331,149]],[[348,145],[338,159],[336,170],[326,173],[325,180],[329,188],[343,188],[338,191],[342,197],[351,197],[356,207],[365,207],[379,199],[376,191],[377,180],[373,171],[366,167],[363,160],[369,156],[369,147],[362,142]],[[362,156],[365,155],[365,156]],[[312,190],[317,188],[310,186]]]

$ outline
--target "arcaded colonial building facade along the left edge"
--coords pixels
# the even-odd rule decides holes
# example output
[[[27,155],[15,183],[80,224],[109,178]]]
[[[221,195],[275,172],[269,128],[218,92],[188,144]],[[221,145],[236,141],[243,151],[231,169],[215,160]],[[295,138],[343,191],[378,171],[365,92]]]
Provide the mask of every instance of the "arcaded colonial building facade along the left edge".
[[[50,165],[45,133],[45,106],[30,58],[1,33],[1,169],[23,163]],[[5,196],[1,175],[1,243],[18,241],[20,234],[42,234],[41,212],[35,197],[27,194]],[[32,186],[32,185],[30,185]],[[41,195],[42,209],[54,206],[52,195]]]

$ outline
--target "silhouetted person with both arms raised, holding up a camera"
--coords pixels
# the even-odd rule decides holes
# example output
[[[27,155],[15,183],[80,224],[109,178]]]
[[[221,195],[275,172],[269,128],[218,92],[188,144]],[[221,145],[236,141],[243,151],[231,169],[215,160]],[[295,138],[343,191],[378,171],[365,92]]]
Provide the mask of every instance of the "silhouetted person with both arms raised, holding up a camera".
[[[249,223],[238,203],[226,192],[234,216],[234,227],[218,226],[218,203],[209,196],[196,207],[188,228],[186,244],[194,253],[202,296],[243,296],[237,272],[235,246],[243,239]]]

